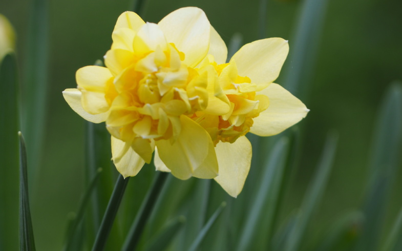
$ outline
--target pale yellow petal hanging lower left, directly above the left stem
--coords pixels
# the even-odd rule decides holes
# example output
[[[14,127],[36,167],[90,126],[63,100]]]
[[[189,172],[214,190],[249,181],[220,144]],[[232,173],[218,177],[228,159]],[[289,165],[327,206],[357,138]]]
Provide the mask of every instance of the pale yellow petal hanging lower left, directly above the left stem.
[[[130,146],[126,147],[126,143],[124,141],[121,141],[113,136],[111,137],[111,141],[112,157],[117,171],[119,171],[124,178],[136,176],[141,170],[142,166],[145,164],[145,161],[136,152],[134,152]]]

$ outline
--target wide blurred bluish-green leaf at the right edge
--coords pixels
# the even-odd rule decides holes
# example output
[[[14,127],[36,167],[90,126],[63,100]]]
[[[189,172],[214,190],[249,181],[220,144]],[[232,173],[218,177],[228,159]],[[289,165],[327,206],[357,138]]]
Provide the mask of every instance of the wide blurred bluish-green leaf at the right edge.
[[[372,144],[371,179],[364,205],[366,223],[357,250],[376,250],[402,145],[402,85],[390,86],[380,106]]]

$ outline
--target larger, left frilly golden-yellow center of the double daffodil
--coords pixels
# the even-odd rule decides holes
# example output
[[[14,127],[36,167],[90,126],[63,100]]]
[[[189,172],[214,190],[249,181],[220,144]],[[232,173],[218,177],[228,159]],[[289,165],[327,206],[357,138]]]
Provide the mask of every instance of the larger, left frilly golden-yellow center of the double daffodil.
[[[110,133],[125,142],[176,138],[180,115],[204,110],[208,101],[203,76],[183,64],[185,55],[174,44],[167,50],[136,58],[108,86]]]

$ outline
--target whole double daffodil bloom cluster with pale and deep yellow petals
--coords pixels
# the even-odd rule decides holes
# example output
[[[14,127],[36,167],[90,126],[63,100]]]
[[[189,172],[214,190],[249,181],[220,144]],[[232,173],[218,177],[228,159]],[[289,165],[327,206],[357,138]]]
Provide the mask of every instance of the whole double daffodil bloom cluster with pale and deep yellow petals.
[[[79,69],[77,89],[63,95],[84,119],[106,122],[124,177],[135,176],[155,152],[157,170],[214,178],[236,197],[251,162],[244,135],[278,134],[308,112],[272,83],[289,50],[282,38],[247,44],[225,64],[224,41],[195,7],[158,24],[124,12],[112,38],[106,67]]]

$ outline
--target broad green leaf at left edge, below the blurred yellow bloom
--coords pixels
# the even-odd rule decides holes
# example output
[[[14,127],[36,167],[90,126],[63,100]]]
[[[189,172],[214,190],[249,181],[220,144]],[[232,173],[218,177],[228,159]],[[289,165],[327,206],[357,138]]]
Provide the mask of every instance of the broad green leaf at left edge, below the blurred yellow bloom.
[[[18,80],[13,53],[0,62],[0,249],[18,249]]]

